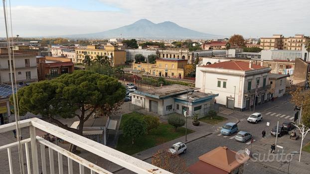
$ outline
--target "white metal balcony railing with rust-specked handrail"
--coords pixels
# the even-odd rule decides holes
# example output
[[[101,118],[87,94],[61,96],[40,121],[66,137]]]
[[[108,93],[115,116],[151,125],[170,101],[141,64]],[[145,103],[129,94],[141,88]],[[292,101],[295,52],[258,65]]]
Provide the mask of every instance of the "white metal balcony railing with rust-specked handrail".
[[[132,156],[119,152],[115,149],[104,146],[95,141],[91,141],[83,136],[77,135],[65,129],[62,129],[58,126],[40,120],[38,118],[30,118],[26,120],[19,121],[19,127],[25,128],[29,127],[30,129],[30,138],[22,140],[20,143],[25,149],[25,159],[26,159],[26,169],[28,174],[40,174],[42,171],[43,174],[55,174],[55,165],[54,165],[54,154],[57,153],[58,157],[58,173],[63,174],[63,164],[67,163],[68,173],[73,174],[79,171],[79,174],[84,174],[84,168],[90,169],[91,174],[112,174],[111,172],[47,141],[43,138],[36,136],[35,129],[40,129],[44,132],[47,132],[51,135],[54,135],[58,138],[63,139],[69,143],[72,143],[79,148],[82,148],[88,152],[96,154],[110,162],[113,162],[123,168],[131,170],[138,174],[171,174],[163,169],[155,167],[149,163],[136,159]],[[0,133],[12,131],[15,129],[15,123],[8,123],[0,126]],[[11,156],[11,148],[16,147],[18,142],[14,142],[11,144],[6,144],[0,147],[0,151],[6,150],[8,155],[8,168],[10,174],[13,174],[13,163]],[[29,145],[30,145],[30,153],[29,153]],[[38,152],[37,147],[40,146],[40,154],[41,154],[41,164],[38,163]],[[48,155],[45,154],[45,146],[48,147]],[[31,155],[31,161],[30,161]],[[63,161],[63,156],[67,157],[67,162]],[[49,161],[49,167],[46,167],[46,160]],[[56,159],[57,161],[57,159]],[[79,169],[73,170],[73,161],[79,164]],[[30,165],[32,164],[32,165]],[[40,165],[40,166],[39,166]],[[32,166],[32,168],[31,168]],[[48,169],[49,168],[49,169]],[[73,172],[75,171],[75,172]]]

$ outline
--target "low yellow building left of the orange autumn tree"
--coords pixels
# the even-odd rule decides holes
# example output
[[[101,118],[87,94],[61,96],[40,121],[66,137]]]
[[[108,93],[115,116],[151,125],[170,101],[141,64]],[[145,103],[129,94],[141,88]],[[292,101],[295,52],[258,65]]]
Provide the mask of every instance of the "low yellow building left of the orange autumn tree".
[[[187,60],[166,58],[156,59],[156,64],[135,63],[133,69],[144,71],[151,76],[183,79],[185,65]]]

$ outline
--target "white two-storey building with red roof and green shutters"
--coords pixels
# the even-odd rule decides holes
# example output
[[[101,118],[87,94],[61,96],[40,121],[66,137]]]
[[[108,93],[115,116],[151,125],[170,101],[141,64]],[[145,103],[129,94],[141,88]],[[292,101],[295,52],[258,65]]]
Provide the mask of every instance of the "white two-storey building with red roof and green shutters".
[[[267,100],[269,67],[242,61],[226,61],[196,68],[200,91],[218,94],[216,102],[227,108],[249,109]],[[255,96],[256,92],[256,96]]]

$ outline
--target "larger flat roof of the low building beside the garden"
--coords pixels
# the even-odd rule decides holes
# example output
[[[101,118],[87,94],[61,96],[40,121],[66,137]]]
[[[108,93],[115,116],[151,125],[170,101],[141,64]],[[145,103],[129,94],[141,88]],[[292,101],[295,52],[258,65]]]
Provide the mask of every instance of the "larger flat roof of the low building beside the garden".
[[[150,89],[136,90],[134,93],[150,96],[153,98],[164,98],[172,95],[186,93],[187,91],[194,91],[195,89],[198,88],[173,84],[162,87],[152,87]]]

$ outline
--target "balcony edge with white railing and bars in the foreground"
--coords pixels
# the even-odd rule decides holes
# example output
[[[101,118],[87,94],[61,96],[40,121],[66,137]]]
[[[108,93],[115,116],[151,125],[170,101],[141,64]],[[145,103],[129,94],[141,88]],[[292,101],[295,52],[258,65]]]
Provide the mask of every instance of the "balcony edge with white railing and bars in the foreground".
[[[15,126],[15,123],[1,125],[0,133],[11,132],[16,129]],[[19,121],[19,127],[23,130],[23,135],[26,132],[25,130],[29,128],[29,135],[20,142],[12,142],[3,145],[3,141],[1,141],[0,173],[19,173],[19,169],[24,168],[25,174],[112,174],[110,171],[101,167],[105,166],[108,168],[106,164],[102,165],[98,163],[96,165],[80,157],[81,155],[75,155],[62,147],[37,136],[36,130],[41,130],[56,136],[65,142],[74,144],[83,151],[88,151],[90,154],[94,154],[90,156],[91,159],[89,160],[95,160],[96,162],[107,160],[109,163],[112,162],[118,165],[120,169],[126,168],[138,174],[171,174],[149,163],[38,118]],[[16,153],[17,146],[19,146],[22,153]],[[7,156],[5,154],[7,154]],[[19,158],[16,157],[20,154],[23,154],[24,157],[24,163],[21,164],[21,166],[18,164]]]

